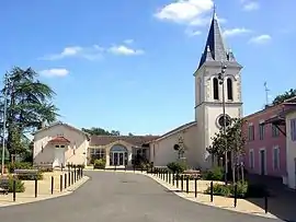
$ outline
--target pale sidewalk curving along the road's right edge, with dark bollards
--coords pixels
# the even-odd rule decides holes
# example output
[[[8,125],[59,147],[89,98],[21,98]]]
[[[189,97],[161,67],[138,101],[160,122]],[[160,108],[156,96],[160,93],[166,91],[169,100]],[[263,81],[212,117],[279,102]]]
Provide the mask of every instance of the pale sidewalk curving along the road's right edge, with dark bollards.
[[[87,170],[87,171],[104,171],[104,170]],[[234,207],[234,198],[226,198],[226,197],[219,197],[219,196],[214,196],[214,201],[210,202],[210,196],[209,195],[205,195],[203,194],[204,190],[209,186],[210,182],[207,180],[198,180],[197,183],[197,198],[195,198],[195,194],[194,194],[194,180],[190,182],[190,192],[186,194],[185,189],[186,189],[186,184],[184,182],[184,186],[183,186],[183,191],[181,191],[181,183],[179,182],[179,188],[177,188],[177,185],[174,184],[174,186],[166,183],[166,180],[153,176],[152,174],[147,174],[145,172],[140,172],[140,171],[122,171],[122,170],[117,170],[117,171],[106,171],[106,172],[116,172],[116,173],[135,173],[135,174],[144,174],[152,179],[155,179],[156,182],[158,182],[160,185],[162,185],[163,187],[166,187],[168,190],[170,190],[171,192],[174,192],[175,195],[178,195],[179,197],[182,197],[184,199],[194,201],[194,202],[198,202],[198,203],[203,203],[206,206],[213,206],[213,207],[217,207],[217,208],[221,208],[225,210],[231,210],[231,211],[237,211],[237,212],[242,212],[242,213],[248,213],[248,214],[255,214],[255,215],[260,215],[260,217],[265,217],[265,218],[272,218],[272,219],[277,219],[277,217],[271,214],[271,213],[265,213],[264,209],[258,207],[257,205],[244,200],[244,199],[238,199],[237,202],[237,207]],[[220,183],[220,182],[217,182]],[[263,199],[262,199],[263,201]]]

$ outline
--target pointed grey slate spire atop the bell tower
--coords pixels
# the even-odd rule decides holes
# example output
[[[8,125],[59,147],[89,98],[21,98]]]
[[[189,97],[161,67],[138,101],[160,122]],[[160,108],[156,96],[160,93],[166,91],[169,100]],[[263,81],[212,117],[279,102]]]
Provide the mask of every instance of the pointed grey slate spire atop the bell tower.
[[[204,49],[204,54],[202,55],[200,67],[203,66],[204,62],[207,61],[208,50],[212,54],[212,58],[215,61],[227,61],[228,55],[224,44],[223,34],[219,27],[218,17],[216,13],[216,5],[214,5],[213,10],[213,19],[210,22],[210,27]]]

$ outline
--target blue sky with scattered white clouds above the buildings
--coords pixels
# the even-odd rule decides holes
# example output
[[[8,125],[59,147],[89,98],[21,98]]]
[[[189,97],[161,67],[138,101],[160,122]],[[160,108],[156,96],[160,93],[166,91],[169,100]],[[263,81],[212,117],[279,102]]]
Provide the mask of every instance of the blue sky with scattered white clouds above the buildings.
[[[244,114],[295,87],[295,0],[216,0],[242,70]],[[194,77],[212,0],[2,1],[0,73],[31,66],[61,120],[160,135],[194,119]]]

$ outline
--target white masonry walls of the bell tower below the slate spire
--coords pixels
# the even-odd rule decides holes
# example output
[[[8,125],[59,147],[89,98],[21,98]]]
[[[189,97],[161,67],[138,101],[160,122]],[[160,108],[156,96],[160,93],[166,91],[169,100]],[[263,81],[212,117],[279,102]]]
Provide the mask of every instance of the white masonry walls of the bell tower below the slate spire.
[[[226,62],[227,63],[227,62]],[[241,77],[240,66],[227,66],[224,75],[225,91],[225,114],[230,118],[239,118],[242,116],[241,102]],[[221,62],[206,63],[195,72],[195,119],[197,121],[198,136],[198,152],[204,156],[200,159],[202,167],[209,167],[212,159],[208,155],[206,148],[212,144],[212,138],[221,127],[218,119],[223,117],[223,85],[218,80],[218,74],[221,72]],[[214,96],[214,79],[218,80],[218,97]],[[231,87],[227,87],[227,81],[231,81]],[[228,92],[229,91],[229,92]],[[231,96],[228,96],[231,94]]]

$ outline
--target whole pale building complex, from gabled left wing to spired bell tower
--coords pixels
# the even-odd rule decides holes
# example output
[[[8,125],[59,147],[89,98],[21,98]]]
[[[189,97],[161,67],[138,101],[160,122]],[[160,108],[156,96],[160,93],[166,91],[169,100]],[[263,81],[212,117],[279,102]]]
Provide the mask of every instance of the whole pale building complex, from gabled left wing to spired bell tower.
[[[184,151],[181,157],[189,166],[208,168],[212,156],[206,148],[212,144],[215,132],[227,125],[229,118],[242,117],[241,69],[224,43],[214,12],[206,45],[194,72],[193,121],[160,137],[90,136],[57,122],[34,133],[34,164],[90,164],[96,156],[106,160],[106,167],[130,166],[135,154],[145,154],[155,166],[166,166],[180,159],[181,149]]]

